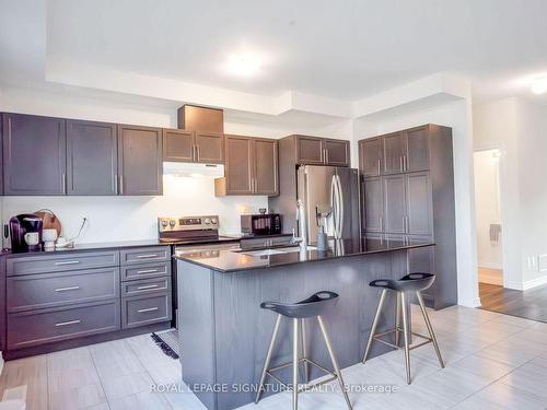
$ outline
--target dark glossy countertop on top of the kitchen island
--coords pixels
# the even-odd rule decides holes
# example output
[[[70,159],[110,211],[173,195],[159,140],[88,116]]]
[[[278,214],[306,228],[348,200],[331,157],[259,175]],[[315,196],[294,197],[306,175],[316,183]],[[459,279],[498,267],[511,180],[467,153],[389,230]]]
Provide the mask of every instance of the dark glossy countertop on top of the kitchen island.
[[[313,262],[358,255],[412,249],[426,246],[434,246],[434,243],[423,241],[415,242],[412,245],[407,245],[400,241],[331,239],[329,241],[328,250],[324,251],[319,251],[314,247],[307,247],[306,249],[294,247],[291,249],[292,251],[288,251],[290,250],[288,248],[272,248],[266,250],[266,254],[264,255],[264,251],[260,250],[241,250],[234,246],[232,249],[216,249],[211,247],[208,249],[195,248],[190,251],[181,249],[175,253],[175,258],[219,272],[235,272],[248,269],[271,268],[283,265]]]

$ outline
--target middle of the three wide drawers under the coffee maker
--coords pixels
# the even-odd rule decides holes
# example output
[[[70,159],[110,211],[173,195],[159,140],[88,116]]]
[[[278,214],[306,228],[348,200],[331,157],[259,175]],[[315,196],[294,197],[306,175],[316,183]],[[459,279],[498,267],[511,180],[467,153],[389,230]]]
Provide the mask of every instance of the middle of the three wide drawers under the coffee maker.
[[[119,297],[119,268],[8,278],[8,312]]]

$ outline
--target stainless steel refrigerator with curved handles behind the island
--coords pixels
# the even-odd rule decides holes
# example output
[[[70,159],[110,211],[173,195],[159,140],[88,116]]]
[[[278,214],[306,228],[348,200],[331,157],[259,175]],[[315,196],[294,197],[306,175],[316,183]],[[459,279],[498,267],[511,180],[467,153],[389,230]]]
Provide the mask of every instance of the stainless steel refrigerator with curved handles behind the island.
[[[360,238],[359,173],[354,168],[300,165],[296,169],[295,219],[299,236],[314,245],[318,212],[330,211],[326,233],[333,239]],[[286,215],[289,216],[289,215]]]

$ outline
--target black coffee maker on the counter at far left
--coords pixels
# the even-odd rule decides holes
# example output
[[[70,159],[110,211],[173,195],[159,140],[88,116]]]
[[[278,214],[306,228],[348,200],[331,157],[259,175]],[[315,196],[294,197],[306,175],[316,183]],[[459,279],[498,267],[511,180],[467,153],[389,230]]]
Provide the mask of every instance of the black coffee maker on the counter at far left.
[[[42,250],[44,222],[32,213],[10,219],[11,250],[13,253]]]

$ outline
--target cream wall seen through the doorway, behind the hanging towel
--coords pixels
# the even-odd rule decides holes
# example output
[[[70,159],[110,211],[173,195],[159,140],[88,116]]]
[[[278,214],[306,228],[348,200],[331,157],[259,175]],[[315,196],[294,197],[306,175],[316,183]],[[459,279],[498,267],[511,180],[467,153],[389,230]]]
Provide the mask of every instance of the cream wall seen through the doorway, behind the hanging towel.
[[[490,224],[501,224],[499,150],[475,152],[475,209],[478,266],[503,269],[502,238],[490,241]]]

